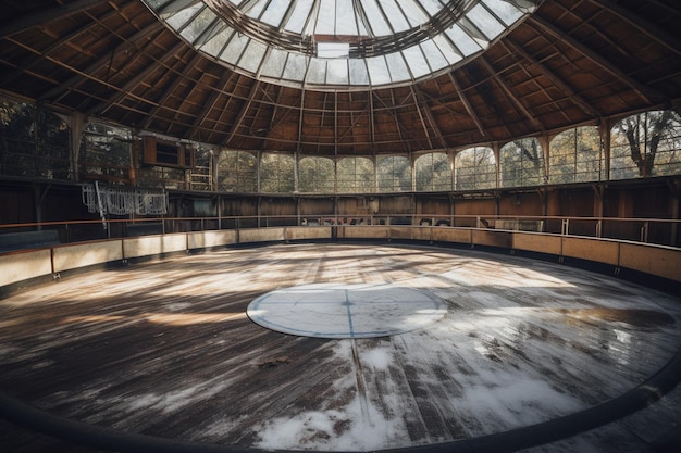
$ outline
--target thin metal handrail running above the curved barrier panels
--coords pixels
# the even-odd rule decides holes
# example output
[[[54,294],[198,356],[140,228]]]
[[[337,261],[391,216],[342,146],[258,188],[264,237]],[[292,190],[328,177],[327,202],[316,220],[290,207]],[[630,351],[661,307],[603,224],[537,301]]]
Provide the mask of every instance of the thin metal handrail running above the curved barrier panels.
[[[0,235],[57,230],[60,242],[111,239],[149,234],[290,226],[449,226],[584,236],[681,247],[681,219],[510,216],[510,215],[252,215],[214,217],[144,217],[0,225]],[[2,249],[0,248],[0,252]]]

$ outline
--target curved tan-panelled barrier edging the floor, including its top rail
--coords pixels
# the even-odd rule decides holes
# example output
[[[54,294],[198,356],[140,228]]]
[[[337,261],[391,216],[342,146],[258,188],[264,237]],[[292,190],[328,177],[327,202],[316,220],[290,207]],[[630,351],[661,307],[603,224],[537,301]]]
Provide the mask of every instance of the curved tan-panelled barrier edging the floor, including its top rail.
[[[676,292],[681,286],[681,248],[652,243],[649,239],[667,236],[673,241],[678,227],[679,221],[664,219],[434,215],[145,218],[5,225],[0,226],[0,240],[4,232],[15,235],[17,243],[15,249],[0,252],[0,289],[33,278],[60,278],[92,266],[234,244],[395,240],[595,263],[614,275],[626,272],[659,278],[648,285],[671,284]],[[592,235],[578,234],[583,231]],[[611,238],[616,235],[606,232],[618,232],[619,237]],[[21,243],[22,238],[35,236],[36,241]]]

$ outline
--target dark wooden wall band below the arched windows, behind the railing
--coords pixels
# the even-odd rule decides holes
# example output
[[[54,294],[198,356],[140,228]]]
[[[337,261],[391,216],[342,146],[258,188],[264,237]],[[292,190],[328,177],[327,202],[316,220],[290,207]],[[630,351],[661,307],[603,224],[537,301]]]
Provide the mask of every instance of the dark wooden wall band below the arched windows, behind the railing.
[[[82,202],[76,184],[0,180],[0,225],[98,219]],[[494,190],[480,193],[370,193],[343,196],[257,196],[169,191],[168,217],[280,217],[249,221],[246,226],[292,225],[306,217],[403,218],[429,216],[557,216],[612,218],[679,218],[681,177],[609,181],[532,189]],[[126,217],[121,217],[126,218]],[[468,223],[467,223],[468,222]],[[456,226],[474,226],[467,219]],[[252,224],[252,225],[251,225]],[[236,223],[235,223],[236,225]],[[585,224],[586,225],[586,224]],[[637,239],[641,224],[617,228],[622,238]],[[230,225],[227,225],[228,227]],[[573,226],[574,234],[593,234],[593,223]],[[585,228],[583,231],[580,228]],[[615,228],[604,225],[604,228]],[[556,228],[554,228],[556,229]],[[553,229],[550,232],[559,232]],[[681,243],[679,232],[666,225],[651,228],[659,243]],[[618,231],[612,232],[619,237]],[[666,239],[667,238],[667,239]],[[676,238],[676,239],[668,239]],[[674,242],[676,241],[676,242]]]

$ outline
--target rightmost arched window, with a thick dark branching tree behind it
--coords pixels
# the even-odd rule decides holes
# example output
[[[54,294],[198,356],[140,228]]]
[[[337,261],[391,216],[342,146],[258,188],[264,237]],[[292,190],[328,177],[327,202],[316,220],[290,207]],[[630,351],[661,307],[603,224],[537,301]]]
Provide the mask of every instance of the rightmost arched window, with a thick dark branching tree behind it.
[[[610,136],[610,179],[681,173],[681,118],[652,111],[617,123]]]

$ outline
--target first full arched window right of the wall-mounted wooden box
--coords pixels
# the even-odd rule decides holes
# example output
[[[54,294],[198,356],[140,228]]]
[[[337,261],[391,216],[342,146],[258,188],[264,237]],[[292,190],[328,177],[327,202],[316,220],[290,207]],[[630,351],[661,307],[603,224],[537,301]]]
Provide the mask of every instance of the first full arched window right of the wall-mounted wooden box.
[[[258,165],[247,151],[222,151],[218,163],[218,190],[223,192],[258,191]]]

